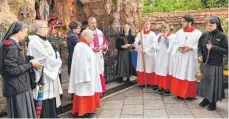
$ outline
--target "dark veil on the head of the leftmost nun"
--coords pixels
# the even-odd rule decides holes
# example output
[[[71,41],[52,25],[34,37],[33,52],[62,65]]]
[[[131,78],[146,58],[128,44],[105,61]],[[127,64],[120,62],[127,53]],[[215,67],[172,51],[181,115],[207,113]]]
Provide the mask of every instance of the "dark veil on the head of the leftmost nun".
[[[2,39],[2,42],[6,39],[9,39],[10,36],[18,33],[20,30],[22,30],[22,27],[23,27],[23,23],[22,22],[19,22],[19,21],[16,21],[14,22],[10,28],[8,29],[8,31],[6,32],[4,38]]]

